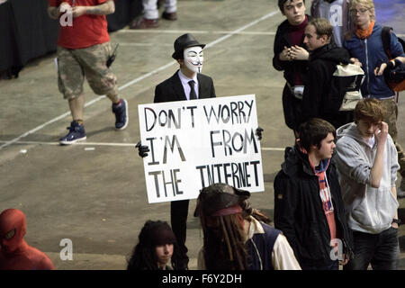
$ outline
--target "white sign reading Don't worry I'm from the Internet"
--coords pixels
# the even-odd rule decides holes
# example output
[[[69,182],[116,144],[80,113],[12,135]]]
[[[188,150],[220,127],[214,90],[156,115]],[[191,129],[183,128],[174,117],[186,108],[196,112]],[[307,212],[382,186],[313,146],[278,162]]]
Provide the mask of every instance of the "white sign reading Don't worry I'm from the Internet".
[[[254,94],[140,104],[139,130],[148,202],[195,199],[227,183],[265,190]]]

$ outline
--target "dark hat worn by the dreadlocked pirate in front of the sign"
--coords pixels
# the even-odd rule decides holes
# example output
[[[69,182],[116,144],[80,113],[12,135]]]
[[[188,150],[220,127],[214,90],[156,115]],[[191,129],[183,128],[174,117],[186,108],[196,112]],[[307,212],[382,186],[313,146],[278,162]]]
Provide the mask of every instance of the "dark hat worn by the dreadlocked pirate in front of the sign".
[[[211,184],[202,189],[197,199],[194,217],[211,216],[216,211],[241,204],[250,193],[230,186],[229,184]]]

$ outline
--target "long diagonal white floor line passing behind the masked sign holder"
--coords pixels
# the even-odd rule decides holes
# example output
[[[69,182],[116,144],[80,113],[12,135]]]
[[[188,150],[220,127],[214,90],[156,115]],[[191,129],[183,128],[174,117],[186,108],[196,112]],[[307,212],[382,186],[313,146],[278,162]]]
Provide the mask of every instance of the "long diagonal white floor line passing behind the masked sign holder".
[[[220,43],[220,42],[223,41],[223,40],[227,40],[229,37],[231,37],[231,36],[237,34],[238,32],[241,32],[241,31],[243,31],[243,30],[245,30],[245,29],[247,29],[247,28],[249,28],[249,27],[251,27],[251,26],[253,26],[253,25],[256,25],[257,23],[259,23],[259,22],[261,22],[261,21],[264,21],[264,20],[266,20],[267,18],[273,17],[275,14],[279,14],[279,11],[273,11],[273,12],[271,12],[271,13],[269,13],[269,14],[266,14],[266,15],[260,17],[259,19],[255,20],[255,21],[253,21],[253,22],[251,22],[251,23],[247,23],[245,26],[242,26],[242,27],[240,27],[239,29],[237,29],[237,30],[235,30],[235,31],[230,31],[229,34],[227,34],[227,35],[225,35],[225,36],[222,36],[222,37],[220,37],[219,39],[214,40],[214,41],[208,43],[208,44],[206,45],[206,48],[212,47],[212,46],[214,46],[214,45]],[[157,69],[155,69],[155,70],[153,70],[153,71],[151,71],[151,72],[149,72],[149,73],[147,73],[147,74],[145,74],[145,75],[143,75],[143,76],[139,76],[138,78],[135,78],[135,79],[133,79],[132,81],[130,81],[130,82],[124,84],[124,85],[121,85],[121,87],[119,87],[118,90],[121,91],[122,89],[125,89],[125,88],[129,87],[130,85],[133,85],[133,84],[135,84],[135,83],[138,83],[139,81],[142,81],[143,79],[148,78],[148,76],[152,76],[152,75],[154,75],[154,74],[157,74],[158,72],[160,72],[160,71],[166,69],[166,67],[170,67],[170,66],[173,66],[173,65],[175,65],[175,64],[177,64],[177,62],[176,62],[175,60],[173,60],[173,61],[167,63],[166,65],[162,66],[162,67],[158,67]],[[102,96],[99,96],[99,97],[97,97],[97,98],[94,98],[92,101],[90,101],[90,102],[88,102],[88,103],[85,103],[85,107],[90,106],[90,105],[92,105],[92,104],[94,104],[94,103],[100,101],[100,100],[103,99],[104,97],[105,97],[105,95],[102,95]],[[51,124],[51,123],[53,123],[53,122],[56,122],[56,121],[58,121],[58,120],[61,120],[61,119],[65,118],[67,115],[70,115],[70,112],[65,112],[65,113],[63,113],[62,115],[60,115],[60,116],[58,116],[58,117],[56,117],[56,118],[54,118],[54,119],[52,119],[52,120],[50,120],[50,121],[47,121],[47,122],[41,124],[40,126],[34,128],[34,129],[32,129],[32,130],[29,130],[28,132],[23,133],[23,135],[20,135],[20,136],[18,136],[17,138],[12,139],[12,140],[10,140],[10,141],[4,143],[3,145],[0,146],[0,149],[12,145],[13,143],[17,142],[18,140],[23,139],[23,138],[27,137],[28,135],[30,135],[30,134],[32,134],[32,133],[38,131],[38,130],[41,130],[42,128],[48,126],[49,124]]]

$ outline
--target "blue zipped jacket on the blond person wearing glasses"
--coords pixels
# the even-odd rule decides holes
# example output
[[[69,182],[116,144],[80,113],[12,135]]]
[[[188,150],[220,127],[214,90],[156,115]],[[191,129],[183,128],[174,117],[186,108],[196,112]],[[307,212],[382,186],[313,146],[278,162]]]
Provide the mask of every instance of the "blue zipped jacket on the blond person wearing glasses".
[[[364,97],[383,99],[395,94],[385,83],[383,76],[374,76],[374,68],[389,60],[383,49],[382,28],[374,24],[373,33],[368,39],[360,40],[355,33],[349,40],[343,42],[343,47],[349,51],[350,56],[358,58],[365,70],[365,82],[362,85]],[[393,57],[405,57],[402,45],[394,33],[391,36],[391,51]]]

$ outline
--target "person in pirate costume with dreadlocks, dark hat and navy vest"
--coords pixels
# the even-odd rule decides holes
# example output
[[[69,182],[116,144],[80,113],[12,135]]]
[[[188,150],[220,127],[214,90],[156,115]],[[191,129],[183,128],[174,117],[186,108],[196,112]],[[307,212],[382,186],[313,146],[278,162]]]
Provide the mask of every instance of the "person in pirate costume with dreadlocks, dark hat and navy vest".
[[[228,184],[203,188],[194,211],[200,217],[203,247],[198,269],[301,270],[283,233],[247,199],[250,193]]]

